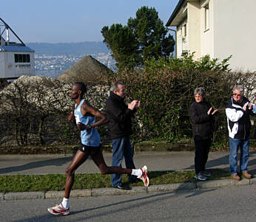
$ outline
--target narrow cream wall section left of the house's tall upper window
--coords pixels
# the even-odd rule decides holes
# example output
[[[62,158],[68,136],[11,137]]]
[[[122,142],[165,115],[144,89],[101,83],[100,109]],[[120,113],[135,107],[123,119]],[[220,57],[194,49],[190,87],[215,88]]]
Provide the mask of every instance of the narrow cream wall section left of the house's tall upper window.
[[[189,52],[195,52],[195,59],[201,58],[201,4],[200,1],[187,2],[187,35]]]

